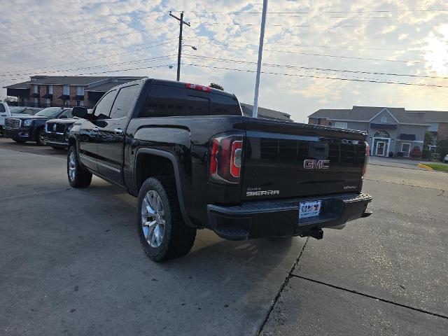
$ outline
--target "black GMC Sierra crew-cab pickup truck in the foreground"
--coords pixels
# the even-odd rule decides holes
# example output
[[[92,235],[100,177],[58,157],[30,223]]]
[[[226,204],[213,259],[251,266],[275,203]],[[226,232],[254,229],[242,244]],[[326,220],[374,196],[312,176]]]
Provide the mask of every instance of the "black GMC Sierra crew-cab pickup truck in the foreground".
[[[196,230],[225,239],[310,236],[369,216],[363,132],[242,116],[234,94],[144,79],[74,107],[67,175],[95,174],[138,197],[155,261],[186,255]]]

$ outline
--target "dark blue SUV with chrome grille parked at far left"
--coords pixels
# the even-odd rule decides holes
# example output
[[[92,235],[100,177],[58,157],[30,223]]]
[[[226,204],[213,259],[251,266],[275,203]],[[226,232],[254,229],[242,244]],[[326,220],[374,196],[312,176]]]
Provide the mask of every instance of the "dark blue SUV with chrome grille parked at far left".
[[[48,107],[34,116],[7,117],[5,119],[5,137],[16,142],[36,141],[43,146],[45,142],[45,122],[52,118],[72,118],[71,109]]]

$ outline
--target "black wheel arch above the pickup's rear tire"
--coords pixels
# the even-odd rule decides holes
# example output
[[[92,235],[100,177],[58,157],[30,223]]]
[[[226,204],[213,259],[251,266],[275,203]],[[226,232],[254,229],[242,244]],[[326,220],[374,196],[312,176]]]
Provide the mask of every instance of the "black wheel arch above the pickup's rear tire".
[[[183,220],[188,226],[195,227],[191,223],[183,202],[182,187],[179,176],[179,166],[176,157],[172,153],[152,148],[140,148],[134,161],[135,190],[138,194],[144,181],[150,177],[174,176],[174,185],[179,200],[179,207]]]

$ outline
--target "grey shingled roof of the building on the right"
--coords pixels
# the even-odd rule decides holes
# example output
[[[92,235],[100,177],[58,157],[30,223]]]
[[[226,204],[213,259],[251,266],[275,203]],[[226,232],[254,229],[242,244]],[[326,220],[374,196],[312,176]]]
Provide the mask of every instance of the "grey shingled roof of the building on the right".
[[[402,107],[384,106],[353,106],[352,109],[321,109],[311,114],[309,118],[326,118],[330,120],[370,123],[372,119],[383,111],[389,113],[395,121],[401,124],[428,125],[429,122],[437,122],[437,120],[448,121],[448,112],[406,111]]]

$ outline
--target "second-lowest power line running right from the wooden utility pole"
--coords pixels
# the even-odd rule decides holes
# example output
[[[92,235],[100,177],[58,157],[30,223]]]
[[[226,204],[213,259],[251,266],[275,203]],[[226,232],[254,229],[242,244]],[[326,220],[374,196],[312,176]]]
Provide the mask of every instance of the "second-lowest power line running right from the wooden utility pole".
[[[187,57],[195,57],[202,59],[213,59],[223,62],[231,62],[231,63],[243,63],[243,64],[256,64],[256,62],[248,62],[242,61],[239,59],[226,59],[219,57],[209,57],[202,55],[191,55],[184,54]],[[287,65],[287,64],[272,64],[272,63],[263,63],[264,66],[274,66],[279,68],[286,69],[304,69],[304,70],[317,70],[317,71],[332,71],[332,72],[341,72],[341,73],[365,73],[370,75],[381,75],[381,76],[399,76],[399,77],[414,77],[414,78],[432,78],[432,79],[448,79],[448,77],[440,77],[440,76],[424,76],[424,75],[408,75],[406,73],[386,73],[386,72],[374,72],[374,71],[355,71],[355,70],[341,70],[341,69],[330,69],[330,68],[317,68],[312,66],[295,66],[295,65]]]

